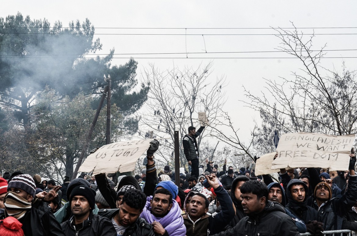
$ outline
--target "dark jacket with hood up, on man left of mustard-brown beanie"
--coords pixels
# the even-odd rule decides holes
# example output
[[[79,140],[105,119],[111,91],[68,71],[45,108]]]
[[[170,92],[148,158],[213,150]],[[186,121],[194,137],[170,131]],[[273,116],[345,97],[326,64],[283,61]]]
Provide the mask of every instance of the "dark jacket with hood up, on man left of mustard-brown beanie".
[[[305,199],[303,202],[297,202],[293,200],[291,193],[290,193],[290,186],[294,184],[301,184],[304,186],[305,189]],[[308,194],[308,188],[306,184],[301,181],[300,179],[292,179],[287,185],[287,191],[286,195],[288,198],[288,204],[286,205],[286,208],[295,216],[297,216],[299,219],[305,222],[307,224],[308,221],[313,221],[317,220],[317,210],[313,209],[311,206],[307,205],[307,194]]]

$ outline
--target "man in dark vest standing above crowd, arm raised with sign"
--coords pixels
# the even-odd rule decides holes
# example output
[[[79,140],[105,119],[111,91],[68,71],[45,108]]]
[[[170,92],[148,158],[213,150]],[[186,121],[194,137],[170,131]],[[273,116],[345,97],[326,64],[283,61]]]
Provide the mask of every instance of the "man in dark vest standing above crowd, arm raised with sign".
[[[185,153],[188,165],[192,168],[191,176],[195,176],[196,179],[198,179],[198,175],[200,174],[198,171],[198,158],[200,157],[200,154],[198,152],[196,138],[203,132],[203,129],[205,129],[205,127],[201,126],[196,132],[195,127],[188,127],[188,134],[186,134],[182,140],[183,152]]]

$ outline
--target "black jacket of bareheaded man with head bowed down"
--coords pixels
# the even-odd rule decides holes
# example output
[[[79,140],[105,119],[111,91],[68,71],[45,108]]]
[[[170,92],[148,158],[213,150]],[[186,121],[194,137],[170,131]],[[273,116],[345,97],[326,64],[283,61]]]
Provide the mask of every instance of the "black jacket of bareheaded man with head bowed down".
[[[111,220],[118,212],[119,209],[101,209],[98,215]],[[135,223],[125,230],[124,236],[155,236],[155,233],[152,226],[139,216]]]

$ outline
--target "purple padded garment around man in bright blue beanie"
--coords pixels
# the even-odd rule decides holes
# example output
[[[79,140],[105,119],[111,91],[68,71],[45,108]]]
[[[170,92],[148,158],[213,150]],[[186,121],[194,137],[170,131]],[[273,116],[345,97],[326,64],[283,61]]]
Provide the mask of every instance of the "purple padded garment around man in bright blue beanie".
[[[152,196],[146,198],[146,204],[141,212],[140,217],[145,219],[149,224],[154,221],[160,222],[162,227],[167,231],[170,236],[185,236],[186,227],[183,225],[183,218],[181,216],[181,209],[178,203],[172,199],[172,207],[167,215],[164,217],[155,217],[151,214],[150,200]]]

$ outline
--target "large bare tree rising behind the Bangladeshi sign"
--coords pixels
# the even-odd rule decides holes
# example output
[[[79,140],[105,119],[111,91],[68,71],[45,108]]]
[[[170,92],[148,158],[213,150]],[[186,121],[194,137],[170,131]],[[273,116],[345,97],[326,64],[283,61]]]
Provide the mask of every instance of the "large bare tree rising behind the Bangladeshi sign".
[[[261,92],[262,96],[256,96],[256,93],[245,89],[248,99],[243,102],[260,112],[262,118],[261,125],[258,125],[260,128],[255,133],[261,138],[257,140],[255,148],[270,145],[268,149],[273,149],[274,129],[280,133],[356,133],[355,71],[347,70],[344,62],[341,71],[321,66],[326,45],[314,50],[314,35],[306,37],[296,28],[293,31],[280,28],[276,31],[281,40],[277,49],[298,58],[302,68],[292,72],[291,78],[282,78],[282,83],[266,79],[266,91]]]

